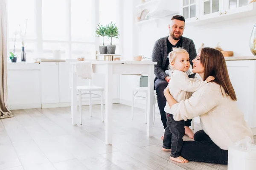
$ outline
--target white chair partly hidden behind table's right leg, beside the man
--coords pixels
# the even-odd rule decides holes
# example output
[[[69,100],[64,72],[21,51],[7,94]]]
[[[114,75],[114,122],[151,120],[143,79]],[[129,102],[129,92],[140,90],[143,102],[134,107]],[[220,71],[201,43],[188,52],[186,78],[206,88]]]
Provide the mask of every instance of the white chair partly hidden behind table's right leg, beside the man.
[[[132,99],[131,99],[131,119],[134,118],[134,102],[135,100],[145,100],[146,107],[145,107],[145,124],[147,123],[147,104],[148,104],[148,77],[147,76],[142,76],[140,77],[140,87],[138,88],[133,88],[132,89]],[[138,93],[145,93],[145,97],[139,96]],[[157,102],[157,94],[156,91],[154,90],[154,106],[153,106],[153,125],[155,121],[155,116],[156,116],[156,109],[155,109],[155,104]]]

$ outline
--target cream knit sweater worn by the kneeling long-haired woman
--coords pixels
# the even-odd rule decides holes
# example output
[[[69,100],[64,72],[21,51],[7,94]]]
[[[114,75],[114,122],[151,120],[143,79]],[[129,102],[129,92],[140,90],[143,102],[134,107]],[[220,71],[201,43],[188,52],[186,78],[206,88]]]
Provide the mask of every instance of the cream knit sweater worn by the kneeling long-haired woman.
[[[200,116],[203,130],[221,149],[227,150],[245,136],[253,140],[252,130],[244,121],[244,114],[236,101],[222,96],[221,87],[216,83],[207,83],[189,99],[173,105],[172,109],[175,110],[173,115],[176,121]]]

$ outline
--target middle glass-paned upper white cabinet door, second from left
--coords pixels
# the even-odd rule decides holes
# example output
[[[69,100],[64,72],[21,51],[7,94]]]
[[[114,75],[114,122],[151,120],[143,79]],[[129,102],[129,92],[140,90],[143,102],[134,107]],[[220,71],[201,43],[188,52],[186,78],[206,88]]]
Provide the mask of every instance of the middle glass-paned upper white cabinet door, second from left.
[[[200,19],[219,17],[223,13],[223,0],[200,0]]]

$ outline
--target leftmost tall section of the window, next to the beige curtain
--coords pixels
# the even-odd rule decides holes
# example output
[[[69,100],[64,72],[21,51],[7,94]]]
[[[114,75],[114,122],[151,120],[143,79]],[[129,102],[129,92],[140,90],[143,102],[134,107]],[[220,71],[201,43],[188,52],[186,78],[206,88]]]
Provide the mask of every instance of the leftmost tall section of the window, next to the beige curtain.
[[[25,9],[25,10],[24,10]],[[22,39],[26,29],[26,54],[31,59],[35,53],[35,0],[8,0],[8,37],[9,52],[14,52],[20,56],[22,49]],[[9,56],[9,54],[8,54]],[[19,58],[20,61],[20,58]]]

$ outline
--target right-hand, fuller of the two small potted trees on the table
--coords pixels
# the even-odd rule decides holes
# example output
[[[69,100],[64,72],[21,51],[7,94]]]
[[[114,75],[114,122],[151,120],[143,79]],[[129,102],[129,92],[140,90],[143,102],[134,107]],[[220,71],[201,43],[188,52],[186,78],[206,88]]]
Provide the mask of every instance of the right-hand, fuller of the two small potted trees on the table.
[[[110,45],[107,46],[108,54],[115,54],[116,52],[116,45],[112,45],[112,38],[118,38],[119,31],[115,23],[110,23],[107,26],[106,36],[111,38]]]

